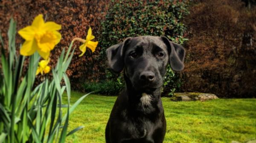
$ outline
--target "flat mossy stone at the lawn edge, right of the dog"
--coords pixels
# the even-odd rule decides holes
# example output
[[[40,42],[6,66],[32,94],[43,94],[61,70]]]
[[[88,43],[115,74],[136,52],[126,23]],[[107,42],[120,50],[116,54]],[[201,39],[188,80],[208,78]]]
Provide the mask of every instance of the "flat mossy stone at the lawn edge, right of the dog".
[[[215,94],[209,93],[196,93],[196,92],[184,92],[184,93],[175,93],[171,100],[173,101],[205,101],[205,100],[212,100],[218,99]]]

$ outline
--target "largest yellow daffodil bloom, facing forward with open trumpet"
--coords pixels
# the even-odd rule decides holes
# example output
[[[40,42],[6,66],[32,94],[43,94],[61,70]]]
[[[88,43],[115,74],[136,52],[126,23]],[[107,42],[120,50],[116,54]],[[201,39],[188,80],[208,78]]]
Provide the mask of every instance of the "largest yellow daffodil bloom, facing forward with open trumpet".
[[[61,34],[57,31],[60,29],[61,25],[54,22],[45,23],[43,14],[39,14],[31,26],[18,31],[18,34],[26,40],[20,49],[20,54],[29,56],[38,51],[41,57],[48,59],[50,51],[61,40]]]

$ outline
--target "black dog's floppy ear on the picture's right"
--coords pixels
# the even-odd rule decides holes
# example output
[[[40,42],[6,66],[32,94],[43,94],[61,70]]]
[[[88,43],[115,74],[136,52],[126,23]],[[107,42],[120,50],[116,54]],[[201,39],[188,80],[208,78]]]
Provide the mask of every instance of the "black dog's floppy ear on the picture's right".
[[[185,49],[183,48],[183,46],[169,41],[166,37],[161,38],[167,46],[167,50],[169,53],[169,63],[172,69],[175,71],[183,70],[183,62],[185,57]]]

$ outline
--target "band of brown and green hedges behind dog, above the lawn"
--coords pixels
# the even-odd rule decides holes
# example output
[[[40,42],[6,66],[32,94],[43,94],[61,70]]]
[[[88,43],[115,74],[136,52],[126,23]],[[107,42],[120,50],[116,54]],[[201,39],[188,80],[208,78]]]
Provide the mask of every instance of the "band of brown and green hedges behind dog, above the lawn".
[[[61,49],[67,49],[74,37],[85,38],[90,25],[99,46],[82,58],[76,49],[67,70],[76,90],[88,92],[105,83],[105,87],[117,87],[108,94],[118,93],[122,76],[107,69],[105,49],[129,36],[166,35],[183,44],[186,57],[183,72],[167,74],[163,95],[211,92],[218,97],[255,97],[255,4],[255,0],[2,0],[0,29],[7,42],[11,16],[18,22],[17,29],[31,24],[39,13],[60,23],[63,37],[52,51],[53,67]],[[21,42],[17,37],[17,43]],[[111,81],[116,84],[108,84]]]

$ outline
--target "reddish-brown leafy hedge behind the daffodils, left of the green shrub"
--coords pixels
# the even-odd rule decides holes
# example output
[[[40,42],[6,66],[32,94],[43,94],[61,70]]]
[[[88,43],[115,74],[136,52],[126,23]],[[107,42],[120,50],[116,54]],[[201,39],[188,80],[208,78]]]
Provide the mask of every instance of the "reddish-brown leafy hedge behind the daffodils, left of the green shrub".
[[[32,20],[38,14],[44,14],[47,21],[54,21],[61,24],[61,42],[51,52],[50,66],[54,67],[62,49],[67,49],[74,37],[85,39],[89,26],[93,29],[96,40],[100,33],[100,23],[105,17],[108,0],[0,0],[0,29],[7,49],[7,30],[11,17],[17,21],[17,30],[31,25]],[[16,43],[23,40],[17,36]],[[81,43],[75,42],[74,47]],[[17,46],[18,47],[18,46]],[[78,57],[81,53],[76,48],[72,62],[67,74],[71,83],[78,83],[82,80],[97,80],[100,63],[97,61],[100,47],[92,54],[87,50],[84,56]],[[18,49],[17,49],[18,51]],[[40,76],[39,76],[40,78]]]

